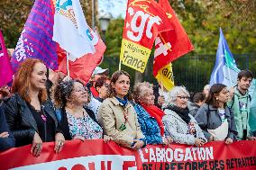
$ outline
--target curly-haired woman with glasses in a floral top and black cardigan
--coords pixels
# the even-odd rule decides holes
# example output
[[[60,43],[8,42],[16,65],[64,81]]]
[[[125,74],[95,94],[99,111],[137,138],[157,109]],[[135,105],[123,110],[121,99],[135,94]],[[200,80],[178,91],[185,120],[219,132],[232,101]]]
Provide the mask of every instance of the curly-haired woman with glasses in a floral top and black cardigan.
[[[102,139],[103,130],[96,122],[94,112],[87,109],[87,88],[78,80],[60,82],[54,89],[53,99],[60,109],[60,129],[65,139]]]

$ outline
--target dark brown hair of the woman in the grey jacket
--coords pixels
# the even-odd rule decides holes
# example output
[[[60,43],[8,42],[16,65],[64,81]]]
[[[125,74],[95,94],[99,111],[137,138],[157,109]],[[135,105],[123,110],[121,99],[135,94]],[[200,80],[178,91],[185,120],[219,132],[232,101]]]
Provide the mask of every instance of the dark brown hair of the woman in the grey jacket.
[[[220,92],[226,87],[223,84],[214,84],[211,86],[209,95],[206,98],[206,103],[213,105],[213,107],[218,108],[219,102],[216,100],[215,94],[220,94]]]

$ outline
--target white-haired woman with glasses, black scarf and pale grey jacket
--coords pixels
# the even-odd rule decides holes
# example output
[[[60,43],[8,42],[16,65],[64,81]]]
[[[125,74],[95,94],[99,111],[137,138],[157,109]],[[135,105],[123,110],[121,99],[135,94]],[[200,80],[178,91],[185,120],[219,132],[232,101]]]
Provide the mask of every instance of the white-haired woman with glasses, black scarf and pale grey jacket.
[[[188,98],[189,94],[183,86],[175,86],[169,92],[169,105],[164,109],[166,115],[162,119],[165,135],[176,143],[203,146],[207,140],[197,121],[189,114]]]

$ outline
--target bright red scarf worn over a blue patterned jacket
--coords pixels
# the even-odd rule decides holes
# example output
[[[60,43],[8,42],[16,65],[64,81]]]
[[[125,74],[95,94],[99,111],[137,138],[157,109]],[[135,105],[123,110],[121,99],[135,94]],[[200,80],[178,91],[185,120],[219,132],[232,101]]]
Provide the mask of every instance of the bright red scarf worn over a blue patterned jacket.
[[[145,105],[142,103],[141,105],[146,110],[146,112],[148,112],[151,115],[151,117],[155,118],[155,120],[158,122],[158,125],[160,127],[160,135],[163,136],[164,125],[161,120],[162,120],[162,117],[165,115],[165,113],[155,105]]]

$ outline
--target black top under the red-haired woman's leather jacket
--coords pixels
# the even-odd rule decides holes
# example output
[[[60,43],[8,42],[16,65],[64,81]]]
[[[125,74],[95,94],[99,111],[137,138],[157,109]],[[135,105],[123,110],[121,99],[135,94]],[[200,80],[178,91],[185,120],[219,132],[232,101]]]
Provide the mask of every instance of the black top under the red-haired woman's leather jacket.
[[[34,107],[27,103],[30,111],[32,112],[32,116],[36,121],[38,133],[43,142],[54,141],[55,134],[52,131],[55,131],[55,124],[50,115],[46,112],[42,112],[41,110],[35,110]]]

